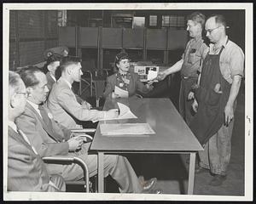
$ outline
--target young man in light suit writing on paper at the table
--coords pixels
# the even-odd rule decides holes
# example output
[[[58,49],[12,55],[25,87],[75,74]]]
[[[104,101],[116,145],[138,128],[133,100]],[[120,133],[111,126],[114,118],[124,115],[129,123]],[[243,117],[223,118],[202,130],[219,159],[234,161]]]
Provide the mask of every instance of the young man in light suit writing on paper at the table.
[[[84,101],[80,105],[72,91],[73,82],[80,82],[81,64],[78,58],[66,57],[61,60],[61,77],[53,86],[47,105],[55,120],[67,128],[81,127],[85,121],[97,121],[103,118],[114,118],[118,111],[90,110],[90,104]]]

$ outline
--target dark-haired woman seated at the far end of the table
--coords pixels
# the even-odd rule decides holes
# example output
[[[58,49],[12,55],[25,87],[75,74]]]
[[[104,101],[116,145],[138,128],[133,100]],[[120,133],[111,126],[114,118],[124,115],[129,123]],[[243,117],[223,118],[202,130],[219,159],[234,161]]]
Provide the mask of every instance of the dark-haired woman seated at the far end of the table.
[[[127,53],[117,54],[114,65],[118,71],[107,78],[107,86],[103,94],[105,98],[128,98],[137,94],[137,91],[147,94],[153,89],[153,81],[148,81],[144,85],[137,73],[130,71],[130,58]]]

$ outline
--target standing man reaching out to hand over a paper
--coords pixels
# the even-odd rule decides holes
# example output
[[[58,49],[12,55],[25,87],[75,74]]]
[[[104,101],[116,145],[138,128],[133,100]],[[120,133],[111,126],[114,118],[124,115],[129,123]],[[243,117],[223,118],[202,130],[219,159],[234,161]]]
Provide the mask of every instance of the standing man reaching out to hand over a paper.
[[[193,112],[191,111],[192,101],[188,99],[188,94],[191,86],[197,82],[198,71],[201,72],[201,61],[206,56],[208,48],[201,37],[206,20],[205,15],[195,12],[190,14],[187,20],[187,31],[192,39],[189,40],[182,59],[166,71],[161,71],[158,78],[163,80],[167,75],[181,71],[179,112],[185,122],[189,124],[193,118]]]

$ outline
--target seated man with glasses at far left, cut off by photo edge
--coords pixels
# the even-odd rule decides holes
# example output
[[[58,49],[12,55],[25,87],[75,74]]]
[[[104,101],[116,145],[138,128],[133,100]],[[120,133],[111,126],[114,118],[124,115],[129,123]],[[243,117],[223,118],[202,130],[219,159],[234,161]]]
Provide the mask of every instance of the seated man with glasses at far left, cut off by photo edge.
[[[49,175],[44,161],[29,143],[26,134],[15,125],[25,110],[26,88],[20,76],[9,71],[8,190],[65,191],[60,175]]]

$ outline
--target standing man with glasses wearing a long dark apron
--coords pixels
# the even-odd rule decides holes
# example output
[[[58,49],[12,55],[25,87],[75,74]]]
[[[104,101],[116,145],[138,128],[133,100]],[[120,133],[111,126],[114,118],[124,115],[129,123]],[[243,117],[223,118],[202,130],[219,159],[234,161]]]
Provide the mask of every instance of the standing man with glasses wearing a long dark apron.
[[[199,152],[197,173],[209,169],[213,186],[226,179],[236,97],[244,70],[244,54],[230,41],[225,29],[223,15],[213,14],[207,19],[206,33],[211,44],[202,65],[199,88],[195,90],[193,109],[196,111],[198,105],[198,111],[189,126],[205,149]]]

